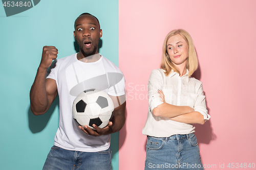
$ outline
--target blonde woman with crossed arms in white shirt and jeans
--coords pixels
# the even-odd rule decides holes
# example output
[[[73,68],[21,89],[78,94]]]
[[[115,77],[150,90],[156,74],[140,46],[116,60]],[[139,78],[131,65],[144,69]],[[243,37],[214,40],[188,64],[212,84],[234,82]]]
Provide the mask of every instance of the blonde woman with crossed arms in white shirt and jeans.
[[[204,124],[202,83],[190,77],[198,67],[194,43],[185,30],[165,38],[160,69],[148,80],[145,169],[203,169],[193,124]]]

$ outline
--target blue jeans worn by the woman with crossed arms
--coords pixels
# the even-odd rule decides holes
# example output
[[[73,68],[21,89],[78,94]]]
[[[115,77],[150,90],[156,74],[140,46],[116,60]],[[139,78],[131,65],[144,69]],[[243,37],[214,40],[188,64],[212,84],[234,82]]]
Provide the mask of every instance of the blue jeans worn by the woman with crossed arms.
[[[148,169],[204,169],[195,134],[147,136],[145,170]]]

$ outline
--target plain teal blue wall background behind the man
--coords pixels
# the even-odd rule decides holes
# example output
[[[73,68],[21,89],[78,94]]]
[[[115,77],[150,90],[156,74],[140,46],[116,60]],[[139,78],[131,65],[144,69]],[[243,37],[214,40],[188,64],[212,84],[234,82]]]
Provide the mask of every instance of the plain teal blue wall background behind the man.
[[[41,0],[35,7],[6,17],[0,7],[0,169],[41,169],[58,128],[58,99],[47,113],[34,116],[29,92],[42,47],[53,45],[58,58],[74,54],[74,21],[95,15],[103,31],[100,54],[118,66],[118,1]],[[118,169],[119,134],[112,135],[112,168]]]

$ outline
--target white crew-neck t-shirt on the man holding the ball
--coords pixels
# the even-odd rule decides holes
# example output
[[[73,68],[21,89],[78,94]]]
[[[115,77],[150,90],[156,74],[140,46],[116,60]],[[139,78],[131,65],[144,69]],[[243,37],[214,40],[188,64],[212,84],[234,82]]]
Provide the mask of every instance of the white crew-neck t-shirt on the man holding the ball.
[[[84,63],[77,59],[77,54],[73,54],[55,62],[47,76],[56,81],[59,95],[59,127],[54,145],[82,152],[108,149],[110,135],[96,137],[79,129],[79,124],[72,115],[72,104],[80,92],[91,88],[103,90],[112,96],[124,95],[125,80],[122,71],[103,56],[96,62]]]

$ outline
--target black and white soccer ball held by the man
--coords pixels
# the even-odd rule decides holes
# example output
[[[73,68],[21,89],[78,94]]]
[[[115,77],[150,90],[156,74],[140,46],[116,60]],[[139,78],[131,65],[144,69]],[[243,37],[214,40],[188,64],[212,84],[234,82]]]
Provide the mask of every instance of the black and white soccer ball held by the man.
[[[98,89],[84,90],[73,102],[72,114],[78,124],[87,125],[91,129],[93,124],[99,128],[107,126],[114,112],[114,104],[110,96]]]

